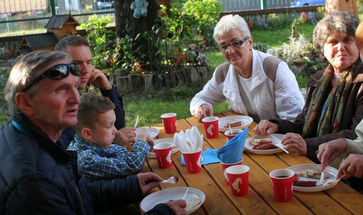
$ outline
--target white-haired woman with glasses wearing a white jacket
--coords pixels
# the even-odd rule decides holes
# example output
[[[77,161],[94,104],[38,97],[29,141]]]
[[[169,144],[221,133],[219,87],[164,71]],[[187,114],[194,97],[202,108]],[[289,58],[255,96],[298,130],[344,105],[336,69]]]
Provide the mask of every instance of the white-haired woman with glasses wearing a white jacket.
[[[227,62],[190,103],[199,122],[213,116],[213,106],[227,100],[237,113],[254,121],[280,118],[293,121],[304,99],[294,74],[278,58],[252,48],[247,23],[239,15],[225,15],[214,28],[214,40]]]

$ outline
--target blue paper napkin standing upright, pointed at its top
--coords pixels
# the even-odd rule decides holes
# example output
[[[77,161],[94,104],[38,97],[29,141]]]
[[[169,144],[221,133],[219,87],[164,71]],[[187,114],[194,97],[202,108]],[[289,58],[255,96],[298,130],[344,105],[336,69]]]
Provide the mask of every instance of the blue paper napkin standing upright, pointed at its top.
[[[222,163],[233,164],[241,160],[247,134],[248,128],[245,128],[240,134],[229,140],[226,145],[217,150],[217,157]]]

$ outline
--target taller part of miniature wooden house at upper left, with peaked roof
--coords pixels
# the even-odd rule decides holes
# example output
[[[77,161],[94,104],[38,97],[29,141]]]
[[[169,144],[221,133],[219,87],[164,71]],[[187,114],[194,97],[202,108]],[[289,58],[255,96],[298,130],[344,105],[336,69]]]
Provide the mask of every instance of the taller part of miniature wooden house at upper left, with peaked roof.
[[[47,32],[52,32],[58,40],[67,36],[77,35],[76,27],[79,26],[73,15],[53,15],[45,28]]]

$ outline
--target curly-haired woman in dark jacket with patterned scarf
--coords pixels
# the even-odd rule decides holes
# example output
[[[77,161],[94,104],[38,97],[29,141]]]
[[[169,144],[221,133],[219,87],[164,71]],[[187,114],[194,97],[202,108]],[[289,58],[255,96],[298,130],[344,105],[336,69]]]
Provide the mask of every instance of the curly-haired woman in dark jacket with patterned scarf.
[[[308,81],[305,106],[294,123],[263,120],[256,135],[285,134],[282,144],[319,163],[319,145],[338,138],[355,139],[363,117],[363,70],[355,32],[360,21],[348,12],[325,15],[314,29],[313,45],[330,64]]]

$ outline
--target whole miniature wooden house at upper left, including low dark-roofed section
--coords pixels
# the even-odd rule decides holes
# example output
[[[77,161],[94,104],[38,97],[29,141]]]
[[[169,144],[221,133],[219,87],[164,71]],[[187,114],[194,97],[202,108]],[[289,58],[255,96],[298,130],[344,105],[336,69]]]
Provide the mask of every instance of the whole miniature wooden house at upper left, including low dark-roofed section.
[[[46,33],[24,35],[16,55],[28,54],[32,51],[51,50],[66,36],[77,35],[77,20],[71,15],[53,15],[45,28]]]

